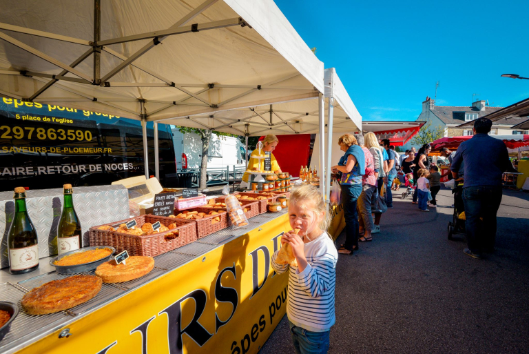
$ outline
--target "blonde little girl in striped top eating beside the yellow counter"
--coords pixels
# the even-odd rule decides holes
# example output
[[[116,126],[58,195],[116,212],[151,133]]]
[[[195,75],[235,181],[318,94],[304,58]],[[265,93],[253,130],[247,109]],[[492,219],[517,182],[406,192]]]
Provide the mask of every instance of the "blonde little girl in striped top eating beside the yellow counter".
[[[293,189],[289,198],[289,221],[293,230],[284,233],[281,244],[290,244],[298,266],[276,263],[276,273],[289,271],[287,315],[295,353],[326,353],[329,332],[335,322],[334,287],[338,251],[326,233],[329,215],[318,188],[309,184]]]

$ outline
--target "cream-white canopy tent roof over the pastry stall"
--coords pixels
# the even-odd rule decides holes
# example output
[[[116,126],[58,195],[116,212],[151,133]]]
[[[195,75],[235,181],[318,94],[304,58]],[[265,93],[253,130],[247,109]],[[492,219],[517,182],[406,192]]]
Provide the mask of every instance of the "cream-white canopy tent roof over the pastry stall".
[[[10,2],[0,95],[141,120],[146,166],[147,121],[156,152],[158,121],[260,135],[269,105],[267,133],[322,131],[323,63],[271,0]],[[337,127],[360,128],[340,107]]]

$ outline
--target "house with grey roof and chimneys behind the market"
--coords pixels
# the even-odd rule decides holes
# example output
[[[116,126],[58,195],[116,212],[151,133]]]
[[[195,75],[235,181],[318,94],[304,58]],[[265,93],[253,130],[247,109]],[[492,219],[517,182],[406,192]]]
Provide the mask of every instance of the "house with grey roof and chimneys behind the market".
[[[464,135],[473,135],[472,126],[457,128],[460,124],[466,121],[473,121],[475,119],[489,115],[492,112],[500,110],[503,107],[490,107],[486,101],[475,101],[471,106],[435,106],[435,100],[426,97],[422,102],[422,112],[417,117],[417,121],[427,121],[431,124],[431,128],[440,127],[444,132],[444,137],[461,137]],[[524,130],[512,130],[512,126],[521,123],[521,118],[508,118],[495,121],[492,124],[490,135],[512,135],[512,134],[528,134]],[[408,143],[403,148],[411,148],[413,144]],[[418,146],[415,146],[418,148]]]

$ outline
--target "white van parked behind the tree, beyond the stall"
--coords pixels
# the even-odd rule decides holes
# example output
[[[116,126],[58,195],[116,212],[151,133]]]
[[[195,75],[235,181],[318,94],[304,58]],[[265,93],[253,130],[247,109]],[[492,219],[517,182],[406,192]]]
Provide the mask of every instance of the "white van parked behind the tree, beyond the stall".
[[[194,132],[183,134],[178,128],[172,128],[174,152],[176,155],[176,169],[182,170],[182,153],[187,156],[187,168],[200,168],[200,159],[202,157],[202,140],[200,135]],[[233,166],[245,166],[245,146],[237,137],[218,137],[216,134],[211,135],[209,141],[209,150],[207,153],[208,168],[226,168],[233,169]]]

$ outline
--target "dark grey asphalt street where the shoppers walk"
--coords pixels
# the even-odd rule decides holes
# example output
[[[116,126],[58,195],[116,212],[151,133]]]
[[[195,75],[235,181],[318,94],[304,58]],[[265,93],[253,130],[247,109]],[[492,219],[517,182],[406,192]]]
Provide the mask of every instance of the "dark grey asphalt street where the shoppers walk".
[[[504,190],[486,259],[448,241],[450,190],[431,213],[395,197],[382,233],[338,259],[329,353],[528,353],[529,194]],[[287,316],[261,353],[293,353]]]

